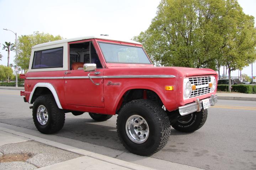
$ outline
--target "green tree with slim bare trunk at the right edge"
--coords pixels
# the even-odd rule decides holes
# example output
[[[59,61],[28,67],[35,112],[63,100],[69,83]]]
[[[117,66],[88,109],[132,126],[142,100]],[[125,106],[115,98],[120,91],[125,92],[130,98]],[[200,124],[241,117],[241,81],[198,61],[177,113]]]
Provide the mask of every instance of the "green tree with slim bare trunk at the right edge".
[[[224,47],[222,61],[228,68],[229,91],[231,91],[231,71],[249,66],[255,61],[256,29],[254,17],[245,15],[236,0],[226,1]]]

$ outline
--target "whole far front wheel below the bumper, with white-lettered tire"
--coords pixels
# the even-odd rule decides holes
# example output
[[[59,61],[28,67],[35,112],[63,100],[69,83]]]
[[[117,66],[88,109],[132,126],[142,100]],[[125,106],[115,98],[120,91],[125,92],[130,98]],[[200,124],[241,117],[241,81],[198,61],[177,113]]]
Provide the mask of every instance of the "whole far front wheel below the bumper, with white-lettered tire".
[[[207,114],[207,109],[204,109],[200,112],[191,113],[190,117],[176,121],[172,127],[180,132],[194,132],[204,125],[207,119]]]

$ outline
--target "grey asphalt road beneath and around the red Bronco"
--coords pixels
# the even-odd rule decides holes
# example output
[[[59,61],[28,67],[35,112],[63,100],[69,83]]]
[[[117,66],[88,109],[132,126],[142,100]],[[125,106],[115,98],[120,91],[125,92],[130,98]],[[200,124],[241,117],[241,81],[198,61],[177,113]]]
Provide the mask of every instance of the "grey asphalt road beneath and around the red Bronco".
[[[95,122],[87,113],[66,114],[64,128],[54,135],[37,131],[31,104],[17,90],[0,89],[0,126],[66,145],[157,169],[174,162],[202,169],[256,169],[256,102],[219,100],[208,109],[204,126],[186,134],[171,130],[167,145],[150,158],[129,153],[116,133],[116,116]],[[156,158],[156,159],[154,159]]]

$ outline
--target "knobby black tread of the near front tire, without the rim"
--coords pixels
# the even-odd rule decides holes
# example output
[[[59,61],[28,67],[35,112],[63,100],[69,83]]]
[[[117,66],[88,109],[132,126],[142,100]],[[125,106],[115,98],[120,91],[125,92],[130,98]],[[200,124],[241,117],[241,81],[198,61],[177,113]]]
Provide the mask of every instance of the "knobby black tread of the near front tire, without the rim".
[[[152,155],[158,151],[160,151],[162,148],[164,148],[164,146],[166,145],[166,143],[169,140],[169,136],[171,134],[171,126],[170,126],[170,121],[169,121],[169,117],[167,116],[167,114],[164,112],[164,110],[158,106],[156,103],[154,103],[153,101],[150,100],[145,100],[145,99],[139,99],[139,100],[133,100],[129,103],[127,103],[126,105],[124,105],[124,107],[121,109],[121,111],[119,112],[118,116],[117,116],[117,134],[119,139],[121,140],[123,146],[130,151],[129,146],[127,146],[127,144],[124,142],[123,138],[121,137],[121,134],[119,132],[119,126],[121,124],[125,124],[125,122],[119,122],[119,118],[122,117],[123,114],[125,114],[125,110],[126,108],[129,108],[133,105],[140,105],[140,106],[144,106],[144,107],[148,107],[152,112],[153,115],[153,119],[157,124],[159,124],[159,128],[161,128],[161,132],[160,132],[160,140],[158,142],[156,142],[154,144],[153,147],[146,149],[143,153],[136,153],[133,152],[134,154],[138,154],[138,155],[143,155],[143,156],[149,156]]]

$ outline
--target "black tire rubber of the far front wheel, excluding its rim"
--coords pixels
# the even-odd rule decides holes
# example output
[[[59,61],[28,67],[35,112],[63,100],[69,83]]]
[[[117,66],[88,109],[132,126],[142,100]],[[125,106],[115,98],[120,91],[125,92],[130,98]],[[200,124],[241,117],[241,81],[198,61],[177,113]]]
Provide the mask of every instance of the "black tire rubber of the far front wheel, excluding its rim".
[[[190,127],[187,127],[187,128],[181,128],[179,126],[177,126],[177,124],[173,124],[172,127],[177,130],[177,131],[180,131],[180,132],[194,132],[200,128],[202,128],[202,126],[204,125],[204,123],[206,123],[206,119],[207,119],[207,115],[208,115],[208,111],[207,109],[204,109],[200,112],[196,112],[195,114],[202,114],[202,117],[201,119],[197,120],[197,122],[195,123],[195,125],[192,125]]]

